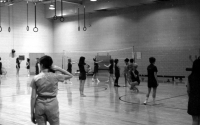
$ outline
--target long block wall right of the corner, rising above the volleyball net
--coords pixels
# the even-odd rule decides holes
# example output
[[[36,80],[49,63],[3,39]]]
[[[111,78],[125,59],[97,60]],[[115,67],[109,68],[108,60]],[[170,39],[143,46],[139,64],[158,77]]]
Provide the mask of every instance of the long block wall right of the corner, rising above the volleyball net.
[[[159,75],[187,76],[185,68],[192,66],[189,55],[199,55],[200,48],[200,2],[192,1],[92,13],[90,19],[86,16],[87,31],[82,30],[83,20],[78,31],[77,17],[68,17],[62,23],[56,21],[53,51],[95,53],[134,46],[135,52],[142,53],[142,58],[136,59],[141,74],[147,74],[148,59],[154,56]]]

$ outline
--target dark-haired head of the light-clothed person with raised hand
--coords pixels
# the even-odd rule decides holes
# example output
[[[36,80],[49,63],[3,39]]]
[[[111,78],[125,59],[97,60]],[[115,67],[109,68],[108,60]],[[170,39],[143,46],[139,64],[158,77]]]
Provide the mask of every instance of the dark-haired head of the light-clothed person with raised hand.
[[[41,69],[51,69],[51,66],[53,64],[53,60],[50,56],[43,56],[39,59],[40,67]]]

